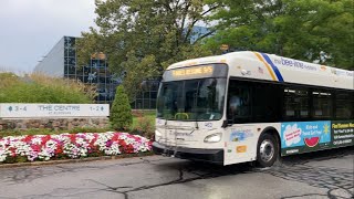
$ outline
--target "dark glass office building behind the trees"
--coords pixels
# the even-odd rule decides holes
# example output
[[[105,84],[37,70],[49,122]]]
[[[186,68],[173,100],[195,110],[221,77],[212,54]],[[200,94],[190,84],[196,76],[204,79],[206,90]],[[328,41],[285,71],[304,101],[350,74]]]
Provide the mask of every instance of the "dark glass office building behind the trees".
[[[110,72],[107,57],[104,53],[93,54],[90,63],[79,66],[76,64],[76,40],[77,38],[63,36],[35,66],[34,72],[79,80],[85,84],[94,84],[97,87],[96,103],[111,104],[114,100],[116,86],[122,83],[122,78],[119,75]],[[138,92],[132,102],[132,108],[156,108],[158,84],[158,78],[146,80],[146,86]]]

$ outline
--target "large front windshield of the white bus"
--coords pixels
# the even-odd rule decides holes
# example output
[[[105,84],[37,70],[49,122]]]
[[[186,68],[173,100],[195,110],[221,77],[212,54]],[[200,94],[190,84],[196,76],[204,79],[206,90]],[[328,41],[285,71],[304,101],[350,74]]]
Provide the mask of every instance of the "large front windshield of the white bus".
[[[226,78],[163,82],[157,117],[176,121],[218,121],[222,117]]]

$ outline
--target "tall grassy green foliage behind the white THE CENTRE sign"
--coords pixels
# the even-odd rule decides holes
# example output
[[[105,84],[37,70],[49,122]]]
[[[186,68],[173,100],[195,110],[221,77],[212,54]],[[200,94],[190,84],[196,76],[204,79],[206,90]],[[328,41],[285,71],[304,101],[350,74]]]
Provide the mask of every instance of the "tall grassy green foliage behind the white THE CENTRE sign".
[[[75,81],[40,74],[0,75],[0,103],[92,103],[95,88]]]

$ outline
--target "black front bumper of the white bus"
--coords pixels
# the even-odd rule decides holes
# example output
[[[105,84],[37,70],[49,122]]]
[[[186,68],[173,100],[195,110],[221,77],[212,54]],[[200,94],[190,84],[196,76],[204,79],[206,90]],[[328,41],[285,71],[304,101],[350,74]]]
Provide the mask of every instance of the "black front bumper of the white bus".
[[[153,150],[157,155],[175,156],[180,159],[190,159],[199,161],[209,161],[214,164],[223,164],[223,149],[200,149],[166,146],[157,142],[153,143]]]

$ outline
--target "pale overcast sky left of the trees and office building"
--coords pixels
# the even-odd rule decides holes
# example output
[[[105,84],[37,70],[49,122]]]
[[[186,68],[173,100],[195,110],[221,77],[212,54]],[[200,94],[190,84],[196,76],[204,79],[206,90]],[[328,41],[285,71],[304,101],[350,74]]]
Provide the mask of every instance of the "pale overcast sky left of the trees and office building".
[[[63,35],[94,27],[94,0],[0,2],[0,71],[32,72]]]

